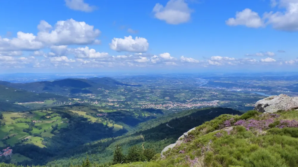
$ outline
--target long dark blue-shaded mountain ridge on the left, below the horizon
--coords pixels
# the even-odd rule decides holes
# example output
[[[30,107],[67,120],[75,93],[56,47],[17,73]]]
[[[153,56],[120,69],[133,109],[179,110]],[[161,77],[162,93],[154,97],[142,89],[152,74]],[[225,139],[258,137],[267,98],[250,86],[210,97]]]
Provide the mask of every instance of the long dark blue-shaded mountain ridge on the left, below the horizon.
[[[119,81],[108,77],[88,79],[66,78],[55,81],[38,81],[30,83],[10,83],[7,81],[0,81],[0,85],[35,93],[54,93],[60,95],[100,93],[100,89],[117,89],[120,85],[141,86],[120,83]]]

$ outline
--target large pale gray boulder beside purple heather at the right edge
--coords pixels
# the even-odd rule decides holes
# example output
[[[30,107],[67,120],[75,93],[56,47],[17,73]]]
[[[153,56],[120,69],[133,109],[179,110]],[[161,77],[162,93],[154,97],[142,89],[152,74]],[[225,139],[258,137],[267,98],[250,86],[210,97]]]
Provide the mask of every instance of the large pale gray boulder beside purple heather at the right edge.
[[[274,113],[278,110],[292,110],[298,108],[298,97],[289,97],[285,94],[278,96],[269,96],[265,99],[257,101],[254,110],[262,113]]]

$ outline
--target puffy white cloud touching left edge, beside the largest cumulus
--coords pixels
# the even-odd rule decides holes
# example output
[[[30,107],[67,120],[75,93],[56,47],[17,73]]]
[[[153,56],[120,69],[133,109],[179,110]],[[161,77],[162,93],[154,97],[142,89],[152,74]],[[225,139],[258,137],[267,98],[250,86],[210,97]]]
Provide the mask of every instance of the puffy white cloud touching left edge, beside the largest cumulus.
[[[43,43],[36,41],[36,37],[32,33],[19,31],[17,37],[13,39],[1,38],[0,36],[0,51],[30,51],[42,47],[44,47]]]

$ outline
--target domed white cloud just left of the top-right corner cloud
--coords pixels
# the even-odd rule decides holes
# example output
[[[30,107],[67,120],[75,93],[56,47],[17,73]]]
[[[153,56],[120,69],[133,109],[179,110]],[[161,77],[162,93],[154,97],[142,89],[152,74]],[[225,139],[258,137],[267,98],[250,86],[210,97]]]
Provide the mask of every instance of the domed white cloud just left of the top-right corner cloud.
[[[236,12],[235,18],[229,18],[226,21],[229,26],[247,26],[252,28],[259,28],[264,26],[263,20],[260,18],[257,12],[253,12],[250,9],[244,9],[241,12]]]

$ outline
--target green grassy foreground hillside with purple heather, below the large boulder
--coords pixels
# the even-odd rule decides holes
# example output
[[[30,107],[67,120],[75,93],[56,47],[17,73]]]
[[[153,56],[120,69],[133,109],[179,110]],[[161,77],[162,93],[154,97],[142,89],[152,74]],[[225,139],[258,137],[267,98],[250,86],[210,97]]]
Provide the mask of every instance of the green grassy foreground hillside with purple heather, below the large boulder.
[[[149,163],[115,166],[298,166],[298,122],[295,121],[298,113],[287,111],[277,114],[260,115],[257,111],[249,111],[242,116],[224,114],[196,127],[190,133],[191,140],[166,152],[165,159],[157,155],[156,160]],[[233,130],[229,133],[220,130],[219,125],[225,125],[224,122],[231,118],[234,118],[229,121]],[[238,120],[243,120],[243,125],[233,126]],[[292,122],[285,124],[282,120]],[[229,126],[227,122],[226,125]],[[286,127],[275,127],[281,125]]]

